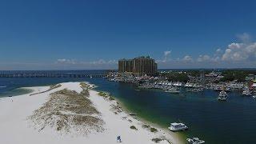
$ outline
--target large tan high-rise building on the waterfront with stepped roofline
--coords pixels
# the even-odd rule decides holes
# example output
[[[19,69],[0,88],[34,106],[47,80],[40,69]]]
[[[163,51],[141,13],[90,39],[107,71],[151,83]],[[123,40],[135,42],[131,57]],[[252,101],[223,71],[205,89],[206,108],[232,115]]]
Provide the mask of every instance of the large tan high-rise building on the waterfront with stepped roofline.
[[[154,75],[157,73],[158,64],[150,57],[138,57],[133,59],[120,59],[118,61],[118,72],[130,72],[139,76]]]

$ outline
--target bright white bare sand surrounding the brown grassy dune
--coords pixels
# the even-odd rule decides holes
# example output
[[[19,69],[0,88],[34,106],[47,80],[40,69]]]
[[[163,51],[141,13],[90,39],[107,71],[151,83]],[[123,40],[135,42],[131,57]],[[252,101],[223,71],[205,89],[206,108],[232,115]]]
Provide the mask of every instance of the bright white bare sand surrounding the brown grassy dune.
[[[101,132],[92,131],[89,134],[79,134],[78,130],[72,133],[60,133],[52,127],[47,127],[42,131],[38,131],[34,125],[27,119],[34,110],[38,110],[49,99],[50,94],[58,92],[59,90],[68,89],[74,90],[77,93],[82,92],[82,87],[79,86],[80,82],[65,82],[61,83],[62,86],[53,90],[49,90],[50,86],[31,87],[33,93],[39,94],[23,94],[11,98],[0,98],[0,135],[1,141],[5,144],[14,143],[117,143],[117,136],[120,135],[122,143],[155,143],[153,138],[161,138],[161,144],[181,143],[174,135],[166,133],[166,130],[156,128],[157,132],[151,132],[150,127],[132,118],[129,114],[122,109],[113,109],[118,107],[118,102],[110,100],[98,95],[95,90],[89,90],[90,102],[99,111],[98,118],[103,121]],[[49,90],[49,91],[47,91]],[[44,92],[46,91],[46,92]],[[40,92],[43,92],[40,94]],[[117,112],[117,110],[119,110]],[[144,126],[143,126],[144,125]],[[130,127],[134,126],[135,129]],[[167,142],[167,140],[169,142]]]

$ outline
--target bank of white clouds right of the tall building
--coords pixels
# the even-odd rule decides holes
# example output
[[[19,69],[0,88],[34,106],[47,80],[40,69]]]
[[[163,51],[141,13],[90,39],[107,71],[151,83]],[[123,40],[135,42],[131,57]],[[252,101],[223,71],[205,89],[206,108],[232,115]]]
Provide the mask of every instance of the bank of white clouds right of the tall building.
[[[250,34],[238,34],[240,43],[230,43],[225,49],[218,48],[213,54],[200,54],[192,58],[186,54],[183,58],[158,61],[160,67],[166,68],[245,68],[256,66],[256,42],[250,42]],[[165,52],[168,56],[170,52]]]

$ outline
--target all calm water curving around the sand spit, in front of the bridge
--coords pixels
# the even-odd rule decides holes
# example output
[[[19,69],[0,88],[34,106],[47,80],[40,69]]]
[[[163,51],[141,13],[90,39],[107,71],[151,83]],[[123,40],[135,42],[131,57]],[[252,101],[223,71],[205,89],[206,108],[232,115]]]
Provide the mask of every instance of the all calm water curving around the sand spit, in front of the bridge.
[[[58,82],[87,81],[96,90],[109,91],[126,108],[149,122],[167,127],[170,122],[185,122],[190,127],[182,134],[199,137],[206,143],[255,143],[256,99],[229,93],[227,102],[218,102],[217,92],[186,93],[184,96],[161,90],[136,90],[127,83],[103,78],[0,78],[0,97],[26,93],[23,86],[46,86]]]

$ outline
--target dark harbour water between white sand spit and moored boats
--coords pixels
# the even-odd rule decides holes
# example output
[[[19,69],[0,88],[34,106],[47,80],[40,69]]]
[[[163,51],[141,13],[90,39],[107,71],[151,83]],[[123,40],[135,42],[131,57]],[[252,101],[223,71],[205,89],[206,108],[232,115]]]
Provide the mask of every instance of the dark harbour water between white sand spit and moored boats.
[[[186,138],[193,139],[196,136],[200,138],[199,143],[241,143],[245,139],[246,142],[254,142],[253,139],[249,138],[254,135],[249,132],[254,130],[253,126],[238,129],[233,127],[240,122],[253,122],[251,118],[256,118],[253,112],[253,107],[256,107],[255,101],[252,98],[242,97],[241,90],[226,91],[226,94],[229,95],[228,101],[218,102],[218,94],[221,91],[213,89],[204,89],[202,92],[194,93],[186,92],[186,87],[181,86],[181,92],[185,95],[185,97],[181,97],[177,94],[166,93],[165,90],[161,89],[140,88],[138,91],[133,84],[107,83],[106,87],[109,87],[109,85],[118,86],[118,92],[113,91],[113,94],[120,95],[118,98],[125,102],[124,105],[128,109],[136,112],[138,117],[166,127],[170,127],[170,122],[182,120],[190,129],[175,134],[183,135],[182,137],[185,140]],[[122,88],[125,90],[123,91]],[[104,90],[109,89],[104,88]],[[129,94],[127,94],[128,91],[130,91]],[[244,113],[245,109],[246,113]],[[238,112],[243,114],[242,117],[237,114]],[[222,119],[225,119],[225,121],[222,121]],[[213,127],[215,128],[213,129]],[[244,135],[237,132],[244,129],[248,130]],[[230,131],[232,131],[232,134],[230,134]],[[239,139],[237,140],[234,137],[239,137]],[[196,139],[194,140],[196,141]],[[191,143],[193,142],[191,141]]]

